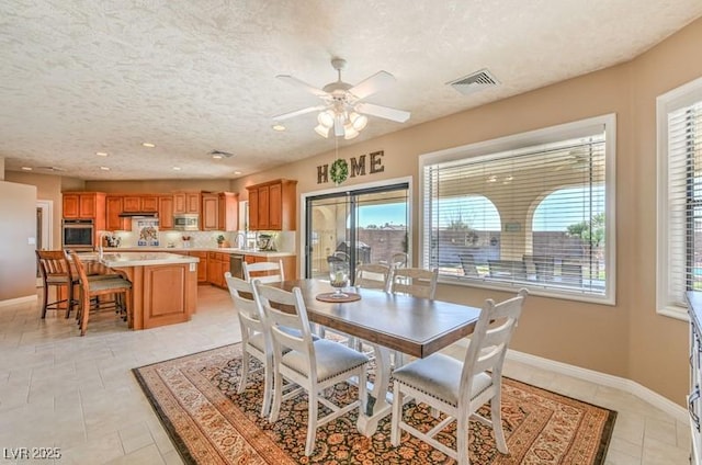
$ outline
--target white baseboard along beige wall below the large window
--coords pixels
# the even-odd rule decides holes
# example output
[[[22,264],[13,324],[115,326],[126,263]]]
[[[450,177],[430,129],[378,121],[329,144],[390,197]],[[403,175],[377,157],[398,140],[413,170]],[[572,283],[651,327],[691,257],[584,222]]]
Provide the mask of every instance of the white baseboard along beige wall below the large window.
[[[514,362],[523,363],[525,365],[535,366],[537,368],[548,370],[563,375],[589,381],[591,383],[597,383],[602,386],[614,387],[616,389],[624,390],[665,411],[682,423],[688,424],[690,422],[688,410],[686,410],[684,407],[677,405],[672,400],[650,390],[649,388],[634,381],[614,375],[608,375],[605,373],[596,372],[593,370],[581,368],[579,366],[569,365],[563,362],[556,362],[554,360],[531,355],[524,352],[518,352],[511,349],[507,351],[507,359]]]

